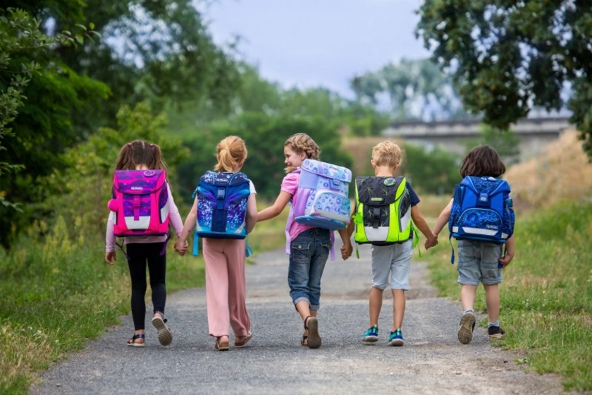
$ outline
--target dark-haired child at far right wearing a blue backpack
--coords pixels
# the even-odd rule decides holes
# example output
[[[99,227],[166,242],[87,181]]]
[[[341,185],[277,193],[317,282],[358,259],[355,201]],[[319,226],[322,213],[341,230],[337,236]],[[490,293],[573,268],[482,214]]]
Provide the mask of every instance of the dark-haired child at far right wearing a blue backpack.
[[[498,152],[488,145],[471,150],[464,157],[462,182],[443,209],[433,228],[434,236],[448,223],[450,238],[458,241],[458,282],[462,317],[458,340],[469,344],[475,327],[474,303],[479,283],[486,293],[490,340],[505,338],[500,328],[500,290],[503,267],[514,257],[514,211],[510,186],[498,179],[505,173]],[[426,248],[429,248],[426,245]],[[454,263],[454,250],[452,250]]]

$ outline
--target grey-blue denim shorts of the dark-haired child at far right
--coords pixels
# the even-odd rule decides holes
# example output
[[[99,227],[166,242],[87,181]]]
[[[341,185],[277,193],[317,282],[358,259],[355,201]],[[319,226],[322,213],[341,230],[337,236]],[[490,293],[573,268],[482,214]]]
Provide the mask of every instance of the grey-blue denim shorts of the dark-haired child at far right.
[[[500,284],[502,269],[498,267],[502,245],[482,241],[458,241],[458,282],[478,286]]]

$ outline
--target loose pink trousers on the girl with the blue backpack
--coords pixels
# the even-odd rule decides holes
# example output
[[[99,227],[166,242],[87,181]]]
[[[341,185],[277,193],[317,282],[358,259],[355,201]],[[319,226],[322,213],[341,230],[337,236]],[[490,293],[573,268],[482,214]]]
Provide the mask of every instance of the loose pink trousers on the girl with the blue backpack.
[[[245,279],[246,240],[203,238],[206,261],[206,302],[210,336],[247,336],[251,320],[247,313]]]

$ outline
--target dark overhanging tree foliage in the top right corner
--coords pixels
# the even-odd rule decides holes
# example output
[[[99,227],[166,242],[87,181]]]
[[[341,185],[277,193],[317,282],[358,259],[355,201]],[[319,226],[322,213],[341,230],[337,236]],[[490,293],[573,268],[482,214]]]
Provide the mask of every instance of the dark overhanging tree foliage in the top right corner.
[[[433,0],[417,35],[464,106],[505,130],[532,107],[567,108],[592,159],[592,13],[586,1]]]

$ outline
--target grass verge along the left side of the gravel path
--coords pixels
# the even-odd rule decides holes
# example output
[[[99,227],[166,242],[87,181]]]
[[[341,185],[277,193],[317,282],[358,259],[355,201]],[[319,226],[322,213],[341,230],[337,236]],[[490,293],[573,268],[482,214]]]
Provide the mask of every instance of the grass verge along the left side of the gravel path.
[[[285,243],[287,212],[257,224],[248,238],[255,254]],[[180,257],[169,243],[167,291],[203,285],[202,255]],[[121,251],[116,265],[107,265],[104,242],[70,238],[63,219],[53,229],[35,224],[10,251],[0,249],[0,289],[0,394],[26,394],[39,372],[130,312]],[[148,289],[147,305],[149,298]]]

